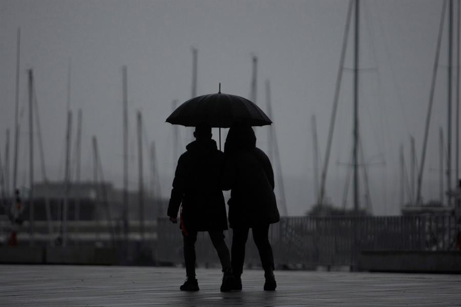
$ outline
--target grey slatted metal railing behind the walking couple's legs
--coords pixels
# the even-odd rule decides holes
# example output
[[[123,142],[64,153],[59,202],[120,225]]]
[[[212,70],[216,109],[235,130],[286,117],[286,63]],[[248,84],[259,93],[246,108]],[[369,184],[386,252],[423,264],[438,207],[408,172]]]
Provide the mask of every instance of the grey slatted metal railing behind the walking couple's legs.
[[[276,266],[350,266],[357,264],[362,250],[454,250],[461,230],[452,215],[432,216],[301,216],[282,217],[269,228]],[[231,246],[232,231],[226,231]],[[248,236],[245,262],[257,266],[259,254]],[[219,264],[206,232],[196,244],[199,264]],[[160,261],[183,262],[182,236],[177,224],[159,218],[156,257]]]

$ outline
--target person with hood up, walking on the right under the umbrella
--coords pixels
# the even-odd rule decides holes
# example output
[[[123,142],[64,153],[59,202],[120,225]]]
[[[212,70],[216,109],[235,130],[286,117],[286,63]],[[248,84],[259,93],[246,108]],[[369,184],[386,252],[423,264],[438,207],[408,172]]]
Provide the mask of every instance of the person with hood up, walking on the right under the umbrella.
[[[253,128],[236,124],[229,129],[224,145],[225,168],[222,185],[231,189],[229,226],[232,236],[233,290],[242,289],[241,274],[245,244],[250,228],[264,268],[264,290],[277,287],[274,277],[274,255],[270,247],[269,225],[280,220],[274,194],[274,171],[269,158],[256,147]]]

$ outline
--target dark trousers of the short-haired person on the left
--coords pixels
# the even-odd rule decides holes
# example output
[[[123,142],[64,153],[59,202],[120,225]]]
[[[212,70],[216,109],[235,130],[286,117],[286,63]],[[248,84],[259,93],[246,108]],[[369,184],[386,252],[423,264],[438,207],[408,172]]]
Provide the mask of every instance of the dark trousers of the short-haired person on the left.
[[[219,260],[223,272],[226,268],[231,266],[231,256],[229,250],[224,242],[224,233],[222,230],[208,231],[209,238],[211,238],[213,246],[218,252]],[[184,261],[186,267],[187,277],[195,277],[195,242],[197,241],[197,231],[188,231],[187,235],[183,235],[184,239]]]

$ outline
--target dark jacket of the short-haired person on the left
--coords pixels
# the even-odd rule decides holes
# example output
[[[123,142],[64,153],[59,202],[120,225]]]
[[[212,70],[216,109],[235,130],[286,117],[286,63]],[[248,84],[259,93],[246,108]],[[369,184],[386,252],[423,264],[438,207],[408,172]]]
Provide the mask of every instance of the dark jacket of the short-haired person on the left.
[[[227,229],[224,197],[219,185],[223,153],[211,139],[186,146],[178,160],[168,216],[177,217],[182,203],[186,231]]]

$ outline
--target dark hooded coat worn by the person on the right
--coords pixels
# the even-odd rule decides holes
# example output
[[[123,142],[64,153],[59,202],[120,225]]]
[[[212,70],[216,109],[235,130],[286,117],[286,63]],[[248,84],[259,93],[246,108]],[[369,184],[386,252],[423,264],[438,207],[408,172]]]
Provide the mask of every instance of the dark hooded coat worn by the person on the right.
[[[229,134],[221,177],[223,189],[231,189],[231,199],[228,201],[229,226],[255,227],[279,222],[274,171],[267,155],[256,147],[253,129],[243,131],[243,135],[242,131],[234,135],[229,130]],[[233,142],[235,144],[230,144]]]

